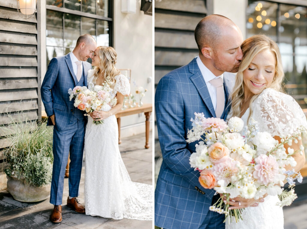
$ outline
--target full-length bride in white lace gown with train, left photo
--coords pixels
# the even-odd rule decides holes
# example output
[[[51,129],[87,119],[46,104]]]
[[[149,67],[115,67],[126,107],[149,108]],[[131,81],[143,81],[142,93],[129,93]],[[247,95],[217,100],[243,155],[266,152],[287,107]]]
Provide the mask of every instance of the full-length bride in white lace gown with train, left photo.
[[[88,118],[85,132],[85,214],[112,219],[152,220],[152,185],[135,183],[122,161],[118,146],[115,114],[122,108],[124,95],[130,93],[126,76],[115,68],[116,52],[99,46],[92,58],[88,83],[102,85],[107,76],[113,81],[117,105],[95,111]],[[93,119],[104,120],[95,125]]]

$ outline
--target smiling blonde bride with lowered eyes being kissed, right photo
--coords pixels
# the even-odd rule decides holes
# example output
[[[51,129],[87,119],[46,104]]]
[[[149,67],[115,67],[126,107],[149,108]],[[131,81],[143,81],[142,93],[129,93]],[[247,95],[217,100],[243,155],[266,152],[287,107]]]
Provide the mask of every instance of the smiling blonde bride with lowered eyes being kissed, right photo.
[[[231,112],[228,118],[241,117],[245,125],[252,118],[258,122],[260,132],[269,132],[279,141],[282,136],[293,134],[301,126],[307,127],[306,117],[300,106],[291,96],[282,93],[284,73],[276,43],[264,35],[255,35],[245,40],[241,48],[243,59],[231,95]],[[300,145],[301,140],[298,140],[297,144],[293,142],[285,148],[299,150]],[[296,153],[293,158],[297,162],[294,170],[298,172],[305,164],[305,155]],[[290,166],[286,167],[286,170],[290,169]],[[226,222],[226,228],[283,228],[283,212],[282,207],[276,205],[279,202],[277,195],[266,196],[262,203],[257,203],[259,200],[255,199],[234,200],[235,202],[230,201],[233,209],[246,207],[242,212],[243,221],[236,223],[233,219],[229,225]],[[258,206],[248,207],[253,204]]]

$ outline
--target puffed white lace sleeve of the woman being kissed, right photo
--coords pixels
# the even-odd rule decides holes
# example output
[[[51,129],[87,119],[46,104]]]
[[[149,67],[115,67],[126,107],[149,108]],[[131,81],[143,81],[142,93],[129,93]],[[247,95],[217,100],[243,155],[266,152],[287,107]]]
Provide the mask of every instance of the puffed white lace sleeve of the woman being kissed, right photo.
[[[306,116],[290,96],[274,89],[265,89],[254,101],[252,117],[262,131],[273,136],[293,134],[301,126],[307,127]]]

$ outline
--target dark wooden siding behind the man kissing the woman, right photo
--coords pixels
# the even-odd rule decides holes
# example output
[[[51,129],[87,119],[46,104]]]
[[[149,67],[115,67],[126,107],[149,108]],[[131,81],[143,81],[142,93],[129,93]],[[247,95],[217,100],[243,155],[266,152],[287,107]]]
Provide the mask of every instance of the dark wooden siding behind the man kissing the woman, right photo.
[[[154,83],[198,55],[194,39],[197,23],[207,15],[205,0],[155,1]],[[159,151],[155,125],[155,151]],[[155,153],[156,156],[159,153]]]

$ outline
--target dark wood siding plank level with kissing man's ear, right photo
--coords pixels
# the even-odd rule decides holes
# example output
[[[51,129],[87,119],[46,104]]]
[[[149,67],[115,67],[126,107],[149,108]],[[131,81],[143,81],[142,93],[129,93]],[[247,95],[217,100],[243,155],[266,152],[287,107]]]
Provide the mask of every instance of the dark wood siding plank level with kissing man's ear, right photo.
[[[197,55],[198,52],[155,51],[155,65],[183,66]]]

